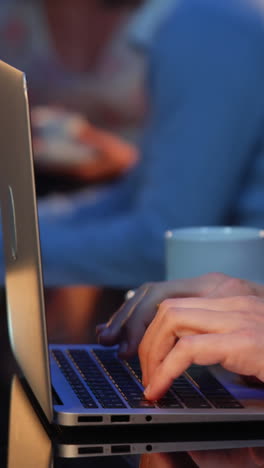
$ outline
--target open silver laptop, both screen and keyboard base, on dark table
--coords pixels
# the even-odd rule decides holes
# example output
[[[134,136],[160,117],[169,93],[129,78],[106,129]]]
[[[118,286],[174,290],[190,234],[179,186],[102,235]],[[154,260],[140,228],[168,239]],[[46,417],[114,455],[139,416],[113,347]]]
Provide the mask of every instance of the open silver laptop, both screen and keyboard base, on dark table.
[[[26,81],[3,62],[0,153],[10,340],[47,420],[61,426],[262,420],[264,387],[246,386],[218,366],[191,367],[150,403],[137,358],[121,361],[116,348],[99,345],[48,347]]]

